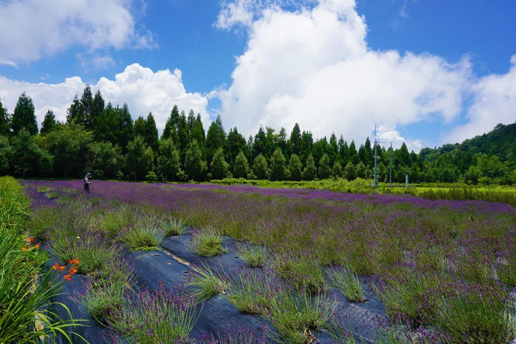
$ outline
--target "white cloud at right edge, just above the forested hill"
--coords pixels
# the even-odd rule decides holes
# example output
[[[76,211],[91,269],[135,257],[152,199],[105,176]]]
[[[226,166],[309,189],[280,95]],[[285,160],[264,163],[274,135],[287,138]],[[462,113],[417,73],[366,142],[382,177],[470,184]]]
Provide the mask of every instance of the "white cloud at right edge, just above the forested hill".
[[[446,137],[447,142],[462,142],[491,131],[498,123],[516,121],[516,55],[511,64],[506,74],[485,76],[472,87],[473,104],[466,114],[469,122],[455,128]]]

